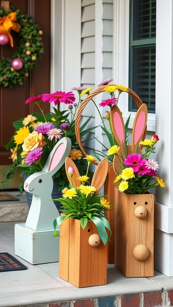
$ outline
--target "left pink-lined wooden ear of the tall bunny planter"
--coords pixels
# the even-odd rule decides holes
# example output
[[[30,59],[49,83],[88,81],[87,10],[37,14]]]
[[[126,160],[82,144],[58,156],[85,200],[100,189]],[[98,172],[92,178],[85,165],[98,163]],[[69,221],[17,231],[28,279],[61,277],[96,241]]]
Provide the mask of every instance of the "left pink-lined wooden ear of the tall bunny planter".
[[[121,111],[117,106],[111,108],[110,121],[115,140],[123,152],[122,143],[126,144],[125,126]]]

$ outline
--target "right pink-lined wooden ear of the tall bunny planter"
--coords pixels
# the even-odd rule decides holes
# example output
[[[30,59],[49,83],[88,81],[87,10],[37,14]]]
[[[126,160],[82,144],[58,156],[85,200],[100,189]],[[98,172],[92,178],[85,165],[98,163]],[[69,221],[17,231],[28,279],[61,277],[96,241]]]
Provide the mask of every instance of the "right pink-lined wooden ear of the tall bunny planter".
[[[147,106],[145,103],[143,103],[136,112],[135,120],[133,123],[132,137],[131,137],[132,152],[136,151],[136,146],[138,142],[142,140],[144,131],[146,130],[146,126],[147,126]]]

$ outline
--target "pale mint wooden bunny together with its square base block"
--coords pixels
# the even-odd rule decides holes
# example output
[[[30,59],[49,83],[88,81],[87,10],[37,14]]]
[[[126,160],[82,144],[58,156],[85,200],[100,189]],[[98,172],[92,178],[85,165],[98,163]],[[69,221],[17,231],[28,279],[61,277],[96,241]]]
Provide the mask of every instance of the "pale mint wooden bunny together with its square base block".
[[[25,191],[33,194],[26,223],[15,224],[15,254],[32,264],[56,262],[59,238],[53,238],[53,221],[59,215],[51,197],[52,176],[69,155],[71,140],[62,138],[54,146],[41,172],[24,182]]]

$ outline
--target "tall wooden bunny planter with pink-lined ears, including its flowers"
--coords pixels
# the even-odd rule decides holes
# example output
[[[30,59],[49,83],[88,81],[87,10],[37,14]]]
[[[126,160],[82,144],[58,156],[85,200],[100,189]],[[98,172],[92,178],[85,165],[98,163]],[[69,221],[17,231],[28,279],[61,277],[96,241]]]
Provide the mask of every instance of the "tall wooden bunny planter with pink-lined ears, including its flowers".
[[[157,161],[150,159],[157,135],[143,140],[147,106],[139,107],[126,145],[122,114],[117,106],[111,110],[111,126],[119,146],[113,165],[115,188],[115,266],[126,277],[154,275],[154,194],[148,190],[165,187],[156,175]],[[143,149],[142,149],[143,147]],[[142,151],[141,151],[142,150]]]

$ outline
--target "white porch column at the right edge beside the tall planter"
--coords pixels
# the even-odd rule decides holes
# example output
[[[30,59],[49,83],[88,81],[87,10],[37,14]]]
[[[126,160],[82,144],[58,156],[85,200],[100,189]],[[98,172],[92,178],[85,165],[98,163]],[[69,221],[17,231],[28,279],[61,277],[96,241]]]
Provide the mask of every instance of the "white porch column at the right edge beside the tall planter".
[[[173,276],[173,7],[156,4],[156,161],[166,187],[156,189],[155,269]]]

